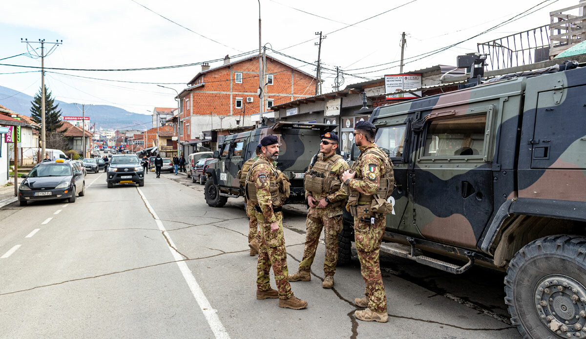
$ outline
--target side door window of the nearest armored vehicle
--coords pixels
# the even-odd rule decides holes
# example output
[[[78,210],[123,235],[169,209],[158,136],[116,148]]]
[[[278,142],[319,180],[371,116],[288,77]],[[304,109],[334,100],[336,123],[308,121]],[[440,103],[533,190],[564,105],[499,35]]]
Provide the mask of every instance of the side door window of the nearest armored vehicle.
[[[482,155],[486,114],[431,121],[425,137],[425,157]]]

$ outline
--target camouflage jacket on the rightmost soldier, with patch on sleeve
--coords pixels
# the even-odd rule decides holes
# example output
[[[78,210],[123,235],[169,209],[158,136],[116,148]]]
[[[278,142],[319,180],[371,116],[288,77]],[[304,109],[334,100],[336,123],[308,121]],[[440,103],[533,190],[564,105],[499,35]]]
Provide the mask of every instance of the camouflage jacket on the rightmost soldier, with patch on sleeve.
[[[356,177],[348,181],[348,187],[353,191],[358,191],[360,194],[372,195],[376,194],[380,185],[380,175],[386,171],[385,162],[376,154],[368,152],[369,148],[378,147],[372,143],[370,145],[359,146],[360,154],[359,160],[352,165],[356,170]]]

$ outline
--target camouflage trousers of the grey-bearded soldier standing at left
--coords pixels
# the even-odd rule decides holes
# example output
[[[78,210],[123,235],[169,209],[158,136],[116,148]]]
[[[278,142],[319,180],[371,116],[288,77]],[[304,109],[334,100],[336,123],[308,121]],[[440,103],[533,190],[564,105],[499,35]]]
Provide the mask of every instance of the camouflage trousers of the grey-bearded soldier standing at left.
[[[263,213],[257,212],[258,226],[260,228],[261,243],[258,251],[257,288],[267,291],[271,288],[271,266],[275,274],[275,283],[280,299],[288,299],[293,295],[291,285],[287,280],[287,250],[285,250],[285,236],[283,233],[282,212],[275,213],[279,229],[271,232],[271,224],[264,222]]]

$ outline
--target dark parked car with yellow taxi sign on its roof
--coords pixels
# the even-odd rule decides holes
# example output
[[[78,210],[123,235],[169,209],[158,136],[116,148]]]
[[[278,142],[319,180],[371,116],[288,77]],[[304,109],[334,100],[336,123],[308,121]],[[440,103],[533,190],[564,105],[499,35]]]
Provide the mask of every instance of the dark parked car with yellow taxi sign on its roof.
[[[76,194],[86,195],[83,169],[69,160],[39,162],[21,178],[25,178],[18,189],[21,206],[36,200],[69,199],[69,202],[75,202]]]

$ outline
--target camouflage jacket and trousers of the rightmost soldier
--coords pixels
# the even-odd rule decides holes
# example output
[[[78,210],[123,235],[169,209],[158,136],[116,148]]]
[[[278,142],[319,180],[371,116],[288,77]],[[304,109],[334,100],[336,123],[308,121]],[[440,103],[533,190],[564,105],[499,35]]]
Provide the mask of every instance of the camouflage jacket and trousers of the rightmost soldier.
[[[361,154],[376,144],[359,147]],[[373,153],[364,154],[356,164],[356,177],[349,179],[348,187],[364,195],[372,195],[379,188],[380,175],[386,170],[385,162]],[[370,204],[369,204],[370,205]],[[368,308],[375,312],[387,311],[387,297],[384,293],[380,273],[380,242],[386,227],[386,216],[379,215],[372,223],[369,205],[359,205],[354,216],[356,251],[360,260],[360,273],[366,283],[364,294],[369,300]]]

